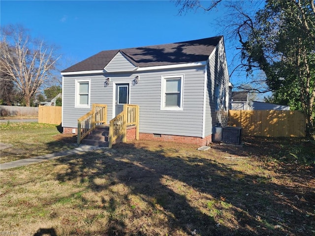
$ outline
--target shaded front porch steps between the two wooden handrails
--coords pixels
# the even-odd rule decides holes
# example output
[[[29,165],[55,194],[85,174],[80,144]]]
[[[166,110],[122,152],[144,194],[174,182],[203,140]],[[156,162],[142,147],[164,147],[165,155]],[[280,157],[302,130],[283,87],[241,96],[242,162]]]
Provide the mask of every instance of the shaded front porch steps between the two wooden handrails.
[[[108,147],[108,125],[96,125],[95,129],[81,143],[93,146]]]

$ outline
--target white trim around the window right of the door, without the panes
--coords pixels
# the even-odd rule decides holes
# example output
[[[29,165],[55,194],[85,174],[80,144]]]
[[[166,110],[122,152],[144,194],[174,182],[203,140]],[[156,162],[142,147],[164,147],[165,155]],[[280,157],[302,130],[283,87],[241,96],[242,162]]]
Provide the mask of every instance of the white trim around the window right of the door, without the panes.
[[[166,80],[167,79],[181,79],[181,97],[180,97],[180,104],[181,106],[168,106],[165,107],[165,89],[166,89]],[[184,93],[184,75],[162,75],[161,77],[161,110],[168,110],[168,111],[183,111],[183,93]]]

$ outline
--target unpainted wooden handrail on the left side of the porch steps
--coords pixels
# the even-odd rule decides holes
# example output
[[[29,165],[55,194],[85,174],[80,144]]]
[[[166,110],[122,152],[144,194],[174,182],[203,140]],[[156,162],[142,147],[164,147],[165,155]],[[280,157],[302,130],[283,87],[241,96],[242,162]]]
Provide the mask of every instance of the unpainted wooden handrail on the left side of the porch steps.
[[[78,139],[80,144],[82,139],[95,129],[97,124],[106,124],[107,105],[93,104],[92,110],[84,116],[78,118]]]

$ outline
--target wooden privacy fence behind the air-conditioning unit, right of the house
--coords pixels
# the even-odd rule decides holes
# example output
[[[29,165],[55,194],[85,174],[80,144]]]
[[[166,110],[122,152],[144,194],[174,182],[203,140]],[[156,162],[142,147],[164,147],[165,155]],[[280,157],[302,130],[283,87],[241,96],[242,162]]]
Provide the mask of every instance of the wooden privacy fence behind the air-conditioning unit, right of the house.
[[[229,110],[228,125],[243,127],[245,135],[305,137],[306,118],[299,111]]]

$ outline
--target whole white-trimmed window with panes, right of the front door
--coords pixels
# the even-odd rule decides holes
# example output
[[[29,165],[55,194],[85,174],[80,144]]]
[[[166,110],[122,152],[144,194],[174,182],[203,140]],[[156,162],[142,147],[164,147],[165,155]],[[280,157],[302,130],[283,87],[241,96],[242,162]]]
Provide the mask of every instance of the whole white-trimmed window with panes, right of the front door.
[[[184,75],[162,76],[161,110],[183,110]]]

